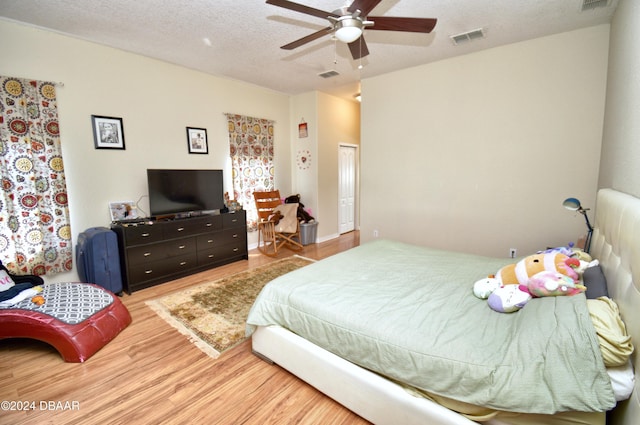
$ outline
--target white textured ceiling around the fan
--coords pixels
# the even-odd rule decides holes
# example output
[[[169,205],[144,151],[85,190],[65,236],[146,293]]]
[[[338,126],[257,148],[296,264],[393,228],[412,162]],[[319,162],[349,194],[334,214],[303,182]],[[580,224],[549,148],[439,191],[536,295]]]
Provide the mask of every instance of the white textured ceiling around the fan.
[[[280,49],[329,22],[264,0],[0,0],[0,17],[279,92],[352,98],[361,79],[610,22],[617,1],[582,12],[583,0],[382,0],[372,16],[438,23],[431,34],[365,30],[370,54],[361,61],[331,36]],[[350,3],[296,2],[325,11]],[[485,38],[459,45],[450,39],[478,28]],[[339,75],[318,76],[328,70]]]

